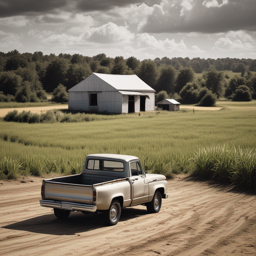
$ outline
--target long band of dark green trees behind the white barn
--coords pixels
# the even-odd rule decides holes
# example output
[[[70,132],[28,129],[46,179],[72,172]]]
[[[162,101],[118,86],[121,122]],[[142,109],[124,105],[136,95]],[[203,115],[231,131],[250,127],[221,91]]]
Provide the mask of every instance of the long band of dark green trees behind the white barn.
[[[239,72],[230,78],[224,70]],[[231,100],[256,99],[256,60],[200,59],[164,57],[140,61],[98,54],[44,55],[42,52],[0,52],[0,101],[37,102],[68,101],[67,90],[87,78],[92,72],[104,74],[136,74],[156,90],[156,102],[164,98],[183,103],[213,105],[216,98]],[[196,78],[196,73],[202,73]]]

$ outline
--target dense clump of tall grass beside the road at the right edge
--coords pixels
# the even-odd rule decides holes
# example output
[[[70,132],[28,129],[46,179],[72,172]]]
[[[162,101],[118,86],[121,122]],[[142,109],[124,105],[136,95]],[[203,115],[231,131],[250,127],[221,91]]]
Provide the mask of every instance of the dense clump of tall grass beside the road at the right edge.
[[[240,147],[202,148],[191,161],[193,176],[256,189],[256,151]]]

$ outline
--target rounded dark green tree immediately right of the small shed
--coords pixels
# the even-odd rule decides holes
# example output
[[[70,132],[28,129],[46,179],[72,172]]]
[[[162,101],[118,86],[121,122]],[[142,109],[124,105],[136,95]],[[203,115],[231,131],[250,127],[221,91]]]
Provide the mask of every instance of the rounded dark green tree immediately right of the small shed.
[[[180,91],[180,96],[184,103],[197,103],[200,86],[197,83],[187,83]]]

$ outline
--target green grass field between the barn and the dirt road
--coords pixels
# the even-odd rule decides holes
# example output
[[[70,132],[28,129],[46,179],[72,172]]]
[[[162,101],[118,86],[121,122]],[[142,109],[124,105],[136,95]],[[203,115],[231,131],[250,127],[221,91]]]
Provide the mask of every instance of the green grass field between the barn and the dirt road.
[[[220,111],[152,112],[81,123],[1,121],[0,178],[78,173],[86,155],[138,156],[143,167],[171,176],[188,172],[205,147],[255,149],[256,101],[218,102]]]

